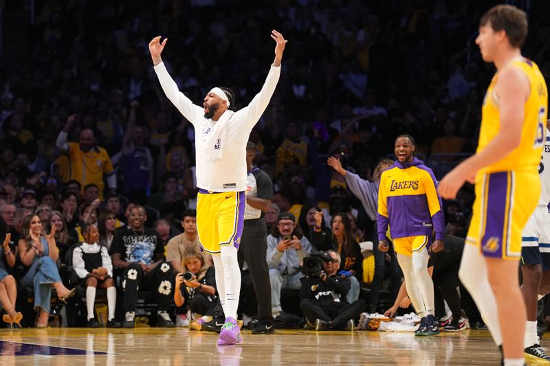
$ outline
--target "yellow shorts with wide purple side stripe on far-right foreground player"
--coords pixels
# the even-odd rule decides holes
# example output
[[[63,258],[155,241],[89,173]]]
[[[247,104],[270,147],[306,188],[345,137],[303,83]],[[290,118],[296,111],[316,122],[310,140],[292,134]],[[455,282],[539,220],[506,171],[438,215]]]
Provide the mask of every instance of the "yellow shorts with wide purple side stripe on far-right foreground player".
[[[479,247],[485,257],[518,260],[522,231],[539,197],[536,170],[478,174],[466,243]]]

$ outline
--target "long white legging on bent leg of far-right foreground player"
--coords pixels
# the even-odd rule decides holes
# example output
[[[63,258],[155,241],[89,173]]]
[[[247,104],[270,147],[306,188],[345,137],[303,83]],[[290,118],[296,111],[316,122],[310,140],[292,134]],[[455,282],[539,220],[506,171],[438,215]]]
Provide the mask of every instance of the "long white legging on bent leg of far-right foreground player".
[[[500,332],[496,299],[489,284],[487,264],[475,245],[464,245],[459,278],[468,293],[472,295],[483,321],[493,336],[494,343],[502,345],[503,336]]]

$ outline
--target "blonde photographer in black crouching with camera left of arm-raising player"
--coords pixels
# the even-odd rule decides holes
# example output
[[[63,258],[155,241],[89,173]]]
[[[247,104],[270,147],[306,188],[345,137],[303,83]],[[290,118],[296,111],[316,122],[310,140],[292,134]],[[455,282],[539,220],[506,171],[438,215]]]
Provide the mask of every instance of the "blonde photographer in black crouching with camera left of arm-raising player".
[[[203,323],[214,316],[218,303],[216,271],[197,249],[188,249],[183,259],[186,272],[176,275],[174,302],[177,307],[186,305],[191,312],[201,314],[201,318],[189,325],[191,329],[201,330]]]

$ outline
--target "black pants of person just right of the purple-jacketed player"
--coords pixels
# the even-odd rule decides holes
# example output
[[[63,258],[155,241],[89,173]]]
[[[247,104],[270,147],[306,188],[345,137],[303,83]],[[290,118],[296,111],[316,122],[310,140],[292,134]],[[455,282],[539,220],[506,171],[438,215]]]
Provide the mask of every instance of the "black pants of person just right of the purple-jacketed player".
[[[435,316],[440,319],[445,316],[445,304],[447,301],[452,317],[458,321],[461,317],[461,302],[457,288],[460,286],[459,279],[460,262],[449,267],[434,270],[432,281],[434,282]]]

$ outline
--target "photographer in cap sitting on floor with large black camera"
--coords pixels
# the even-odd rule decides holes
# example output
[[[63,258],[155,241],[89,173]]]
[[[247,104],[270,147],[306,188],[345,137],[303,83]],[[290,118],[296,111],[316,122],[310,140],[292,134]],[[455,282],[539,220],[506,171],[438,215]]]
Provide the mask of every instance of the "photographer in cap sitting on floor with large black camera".
[[[307,323],[315,324],[315,330],[354,330],[355,319],[366,306],[362,299],[353,304],[346,301],[351,283],[348,277],[336,274],[341,260],[333,250],[304,258],[300,309]]]

